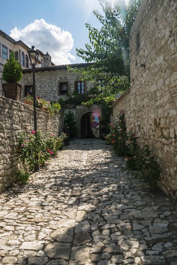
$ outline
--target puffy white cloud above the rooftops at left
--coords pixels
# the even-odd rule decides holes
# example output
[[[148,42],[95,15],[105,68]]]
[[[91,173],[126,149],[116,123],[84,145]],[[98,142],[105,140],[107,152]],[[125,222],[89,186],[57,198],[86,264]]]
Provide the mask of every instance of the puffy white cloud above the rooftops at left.
[[[74,44],[71,33],[46,23],[44,19],[35,20],[24,29],[15,27],[10,36],[16,41],[22,40],[29,47],[34,45],[44,54],[48,51],[56,65],[70,64],[70,59],[75,59],[70,53]]]

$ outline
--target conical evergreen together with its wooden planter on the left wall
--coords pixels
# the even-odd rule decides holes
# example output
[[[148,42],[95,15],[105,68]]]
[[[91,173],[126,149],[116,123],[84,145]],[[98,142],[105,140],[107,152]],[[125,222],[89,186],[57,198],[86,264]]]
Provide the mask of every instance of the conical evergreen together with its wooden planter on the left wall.
[[[11,52],[9,59],[4,64],[2,79],[6,82],[2,84],[4,96],[13,100],[20,101],[22,85],[18,82],[22,79],[22,67],[14,58],[14,52]]]

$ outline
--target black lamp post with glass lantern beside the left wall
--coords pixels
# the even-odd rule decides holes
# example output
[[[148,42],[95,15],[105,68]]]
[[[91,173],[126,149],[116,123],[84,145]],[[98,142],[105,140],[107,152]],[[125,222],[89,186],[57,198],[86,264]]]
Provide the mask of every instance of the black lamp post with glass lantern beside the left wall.
[[[35,65],[37,64],[37,60],[38,60],[38,57],[39,57],[39,52],[35,49],[34,46],[32,46],[32,49],[30,49],[28,51],[28,55],[29,55],[29,58],[30,58],[30,62],[32,64],[32,74],[33,74],[33,107],[34,107],[34,130],[36,132],[37,130],[37,121],[36,121],[36,93],[35,93]],[[32,59],[31,57],[33,57],[34,59],[34,63],[32,62]],[[36,135],[36,134],[35,134]],[[35,160],[38,160],[38,157],[35,158]],[[38,163],[35,164],[35,171],[37,171],[39,169],[39,165]]]

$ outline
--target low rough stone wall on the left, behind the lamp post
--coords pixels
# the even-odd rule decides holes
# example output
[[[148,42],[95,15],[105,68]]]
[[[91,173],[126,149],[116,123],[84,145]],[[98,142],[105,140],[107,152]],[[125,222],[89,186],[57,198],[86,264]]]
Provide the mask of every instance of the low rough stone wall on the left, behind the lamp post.
[[[34,130],[33,107],[0,96],[0,192],[16,181],[19,167],[17,144],[20,133]],[[54,115],[37,109],[37,128],[42,132],[62,132],[64,114]]]

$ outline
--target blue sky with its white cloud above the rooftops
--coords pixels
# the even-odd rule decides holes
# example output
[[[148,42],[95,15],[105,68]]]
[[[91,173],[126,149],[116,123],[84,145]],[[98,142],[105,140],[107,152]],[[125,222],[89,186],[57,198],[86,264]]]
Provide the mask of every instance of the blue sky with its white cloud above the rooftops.
[[[47,49],[55,64],[81,62],[75,49],[89,42],[85,23],[100,28],[93,10],[103,14],[98,0],[6,0],[1,2],[1,9],[1,29],[44,53]]]

